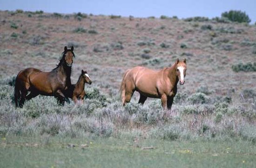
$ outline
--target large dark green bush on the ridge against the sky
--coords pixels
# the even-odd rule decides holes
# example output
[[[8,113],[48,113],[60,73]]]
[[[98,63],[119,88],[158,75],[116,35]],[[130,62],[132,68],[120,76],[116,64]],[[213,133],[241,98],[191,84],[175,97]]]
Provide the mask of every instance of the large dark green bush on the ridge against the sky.
[[[246,22],[249,23],[251,20],[249,19],[249,16],[242,11],[236,11],[236,10],[230,10],[229,12],[222,13],[222,17],[228,18],[230,21],[235,22]]]

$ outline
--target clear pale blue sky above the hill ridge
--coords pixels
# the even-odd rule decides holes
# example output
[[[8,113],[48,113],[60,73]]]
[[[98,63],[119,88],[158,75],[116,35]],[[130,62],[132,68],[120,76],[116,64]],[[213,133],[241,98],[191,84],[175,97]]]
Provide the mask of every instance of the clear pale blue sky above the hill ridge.
[[[256,22],[256,0],[0,0],[0,10],[43,10],[48,13],[92,13],[134,17],[220,17],[241,10]]]

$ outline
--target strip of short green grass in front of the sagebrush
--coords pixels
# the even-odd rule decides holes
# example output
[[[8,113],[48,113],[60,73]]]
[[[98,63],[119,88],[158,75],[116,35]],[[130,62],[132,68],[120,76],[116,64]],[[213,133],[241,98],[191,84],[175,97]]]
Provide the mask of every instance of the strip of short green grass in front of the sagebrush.
[[[48,168],[253,168],[256,147],[241,141],[161,141],[96,138],[1,140],[0,166]],[[72,147],[74,146],[74,147]],[[147,149],[149,148],[149,149]],[[10,161],[12,158],[12,161]]]

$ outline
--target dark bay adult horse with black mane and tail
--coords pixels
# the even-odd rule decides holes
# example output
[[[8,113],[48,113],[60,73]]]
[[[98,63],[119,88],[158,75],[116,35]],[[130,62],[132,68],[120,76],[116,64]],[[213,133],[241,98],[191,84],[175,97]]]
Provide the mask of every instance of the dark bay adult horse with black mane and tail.
[[[52,71],[43,72],[30,67],[21,70],[15,79],[14,100],[16,107],[23,107],[25,100],[30,100],[37,95],[57,97],[60,104],[64,104],[63,90],[71,85],[71,69],[74,58],[74,47],[64,47],[62,58]],[[28,95],[27,93],[30,92]]]

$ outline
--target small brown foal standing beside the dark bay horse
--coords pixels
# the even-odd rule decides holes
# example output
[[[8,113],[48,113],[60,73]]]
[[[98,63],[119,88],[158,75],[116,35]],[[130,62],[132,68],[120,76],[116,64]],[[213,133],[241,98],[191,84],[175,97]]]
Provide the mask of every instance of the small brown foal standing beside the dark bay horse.
[[[71,98],[75,103],[77,103],[78,100],[83,101],[85,96],[85,83],[91,85],[92,81],[87,72],[82,70],[76,84],[67,87],[67,89],[63,91],[63,94],[65,95],[65,97]]]

